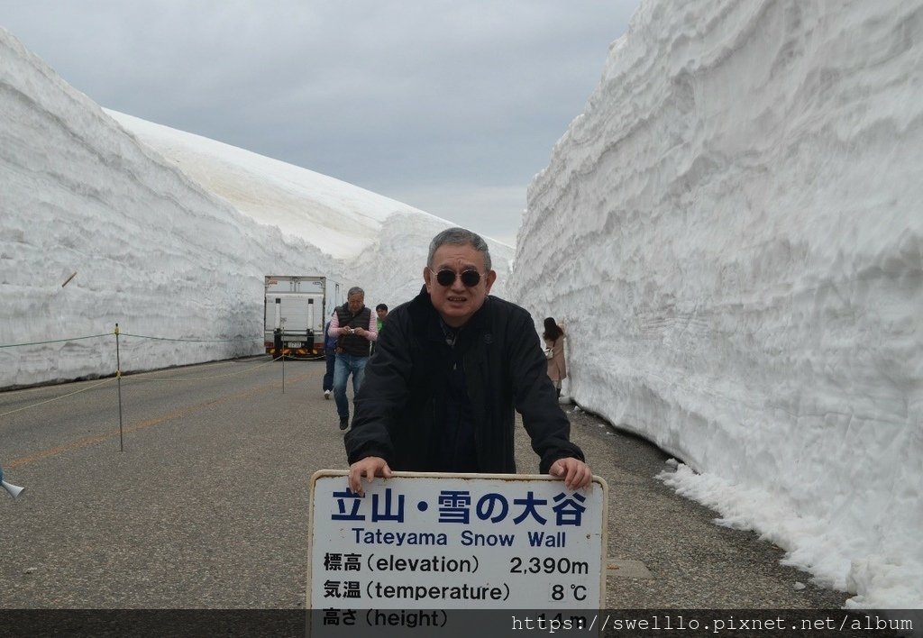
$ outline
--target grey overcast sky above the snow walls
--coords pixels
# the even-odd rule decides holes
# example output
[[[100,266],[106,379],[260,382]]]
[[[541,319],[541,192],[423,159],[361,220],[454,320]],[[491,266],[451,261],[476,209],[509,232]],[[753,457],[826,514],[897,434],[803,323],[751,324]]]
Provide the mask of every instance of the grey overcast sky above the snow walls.
[[[102,106],[512,244],[639,0],[0,0]]]

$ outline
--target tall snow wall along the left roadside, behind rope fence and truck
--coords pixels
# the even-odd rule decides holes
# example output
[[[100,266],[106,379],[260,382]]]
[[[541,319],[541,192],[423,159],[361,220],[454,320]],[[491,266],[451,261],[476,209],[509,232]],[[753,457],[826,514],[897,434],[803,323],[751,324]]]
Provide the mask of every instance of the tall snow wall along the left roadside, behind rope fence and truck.
[[[0,388],[262,351],[263,277],[342,272],[212,197],[0,29]],[[77,273],[67,283],[71,274]],[[67,341],[70,339],[70,341]]]

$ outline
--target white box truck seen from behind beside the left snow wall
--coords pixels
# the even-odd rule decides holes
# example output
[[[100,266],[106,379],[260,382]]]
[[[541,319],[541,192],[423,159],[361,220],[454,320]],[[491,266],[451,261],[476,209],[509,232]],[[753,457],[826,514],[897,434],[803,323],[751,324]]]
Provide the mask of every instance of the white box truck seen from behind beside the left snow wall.
[[[263,321],[266,354],[311,358],[324,354],[324,326],[346,291],[329,277],[266,276]]]

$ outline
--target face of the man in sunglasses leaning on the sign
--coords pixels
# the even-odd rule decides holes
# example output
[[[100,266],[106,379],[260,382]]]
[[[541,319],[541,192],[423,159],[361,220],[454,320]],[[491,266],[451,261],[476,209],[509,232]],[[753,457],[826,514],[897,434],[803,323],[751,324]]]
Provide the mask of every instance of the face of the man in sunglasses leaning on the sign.
[[[432,269],[432,270],[430,270]],[[437,281],[438,271],[452,271],[455,281],[442,285]],[[459,277],[464,271],[476,271],[481,274],[481,281],[473,286],[466,286]],[[433,255],[433,263],[423,269],[426,290],[433,302],[433,307],[446,325],[459,328],[471,319],[473,314],[484,306],[491,286],[497,279],[494,271],[484,271],[484,255],[471,245],[438,247]]]

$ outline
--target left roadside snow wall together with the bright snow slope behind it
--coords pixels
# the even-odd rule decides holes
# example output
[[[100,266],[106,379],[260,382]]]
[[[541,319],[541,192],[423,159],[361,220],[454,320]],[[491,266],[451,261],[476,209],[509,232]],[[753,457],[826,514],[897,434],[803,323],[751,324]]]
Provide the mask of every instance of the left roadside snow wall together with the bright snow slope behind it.
[[[261,352],[267,274],[328,275],[394,306],[419,291],[429,240],[454,225],[107,114],[2,28],[0,179],[0,388],[114,373],[116,323],[203,340],[125,336],[126,371]],[[512,248],[488,243],[502,291]]]

